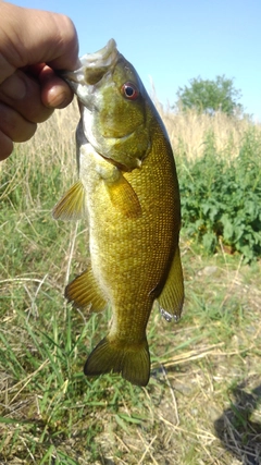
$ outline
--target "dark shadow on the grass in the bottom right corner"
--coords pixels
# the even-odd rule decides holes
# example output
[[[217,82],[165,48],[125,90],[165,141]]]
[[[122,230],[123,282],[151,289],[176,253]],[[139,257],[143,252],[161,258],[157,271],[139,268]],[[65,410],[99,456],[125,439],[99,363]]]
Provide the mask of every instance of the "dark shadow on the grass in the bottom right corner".
[[[248,393],[244,390],[247,383],[244,381],[231,390],[234,400],[214,427],[225,449],[243,465],[260,465],[261,424],[251,417],[261,405],[261,384]]]

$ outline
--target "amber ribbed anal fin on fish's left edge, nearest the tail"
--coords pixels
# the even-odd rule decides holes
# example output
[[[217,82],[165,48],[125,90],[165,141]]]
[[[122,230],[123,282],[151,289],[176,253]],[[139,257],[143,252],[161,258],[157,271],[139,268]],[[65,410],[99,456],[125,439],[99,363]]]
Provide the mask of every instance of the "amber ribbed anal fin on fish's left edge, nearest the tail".
[[[65,287],[65,297],[82,310],[102,311],[108,302],[94,277],[92,269],[84,271]]]

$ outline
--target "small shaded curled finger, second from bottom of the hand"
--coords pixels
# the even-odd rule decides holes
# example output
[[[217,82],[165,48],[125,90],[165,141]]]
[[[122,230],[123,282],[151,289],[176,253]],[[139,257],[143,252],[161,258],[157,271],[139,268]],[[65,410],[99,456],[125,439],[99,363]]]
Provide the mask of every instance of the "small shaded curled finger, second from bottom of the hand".
[[[28,140],[37,125],[25,120],[17,111],[0,102],[0,132],[13,142]],[[2,147],[0,147],[2,151]]]

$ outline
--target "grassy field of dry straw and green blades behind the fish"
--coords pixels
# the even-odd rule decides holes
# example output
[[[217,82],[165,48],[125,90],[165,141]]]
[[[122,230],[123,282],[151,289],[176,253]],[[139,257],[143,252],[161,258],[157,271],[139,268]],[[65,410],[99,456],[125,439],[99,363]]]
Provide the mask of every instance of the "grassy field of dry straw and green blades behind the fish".
[[[161,112],[181,180],[209,134],[232,162],[251,133],[260,157],[257,124]],[[0,465],[261,464],[260,258],[222,241],[208,254],[184,228],[184,313],[167,323],[152,311],[148,387],[84,376],[110,311],[88,317],[64,302],[88,231],[51,218],[76,179],[77,119],[74,106],[57,111],[0,166]]]

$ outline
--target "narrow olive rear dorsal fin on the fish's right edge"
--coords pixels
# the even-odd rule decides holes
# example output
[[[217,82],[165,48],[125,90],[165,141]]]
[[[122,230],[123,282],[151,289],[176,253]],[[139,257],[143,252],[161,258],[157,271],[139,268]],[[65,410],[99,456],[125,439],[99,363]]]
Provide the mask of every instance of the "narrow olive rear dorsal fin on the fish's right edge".
[[[160,311],[166,321],[178,320],[184,302],[184,282],[179,247],[176,248],[165,285],[157,298]]]

